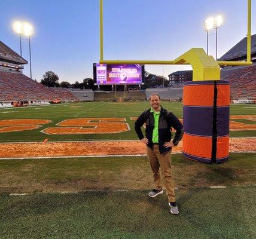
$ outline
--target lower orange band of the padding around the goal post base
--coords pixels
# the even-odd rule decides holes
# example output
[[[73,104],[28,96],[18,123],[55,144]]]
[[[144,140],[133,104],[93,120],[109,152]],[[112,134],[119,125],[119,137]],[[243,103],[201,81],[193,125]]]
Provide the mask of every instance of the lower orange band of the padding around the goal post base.
[[[196,157],[212,157],[212,137],[193,136],[184,133],[182,138],[183,151]],[[217,138],[217,155],[216,158],[228,157],[229,136]]]

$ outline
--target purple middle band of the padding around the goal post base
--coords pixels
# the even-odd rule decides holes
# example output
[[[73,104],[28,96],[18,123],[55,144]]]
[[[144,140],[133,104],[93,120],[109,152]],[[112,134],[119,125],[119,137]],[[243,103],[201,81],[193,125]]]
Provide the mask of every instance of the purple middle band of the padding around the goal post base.
[[[198,136],[212,136],[213,108],[183,106],[184,132]],[[217,136],[229,133],[229,106],[217,108]]]

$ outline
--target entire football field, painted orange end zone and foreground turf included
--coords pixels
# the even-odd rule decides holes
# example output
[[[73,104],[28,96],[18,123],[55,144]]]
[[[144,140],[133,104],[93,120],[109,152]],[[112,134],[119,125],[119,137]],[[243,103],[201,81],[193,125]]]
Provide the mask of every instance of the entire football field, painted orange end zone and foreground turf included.
[[[182,103],[161,105],[182,120]],[[178,216],[166,195],[147,196],[153,177],[133,128],[147,108],[0,109],[0,238],[256,237],[256,106],[230,106],[227,163],[185,160],[181,147],[172,154]]]

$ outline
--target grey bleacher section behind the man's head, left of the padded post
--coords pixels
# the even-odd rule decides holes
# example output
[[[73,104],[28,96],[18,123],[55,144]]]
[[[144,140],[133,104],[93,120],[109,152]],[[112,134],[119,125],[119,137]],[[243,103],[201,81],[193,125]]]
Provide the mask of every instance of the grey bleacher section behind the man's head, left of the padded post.
[[[162,100],[179,100],[182,98],[182,88],[147,88],[147,100],[150,99],[151,94],[159,94]]]

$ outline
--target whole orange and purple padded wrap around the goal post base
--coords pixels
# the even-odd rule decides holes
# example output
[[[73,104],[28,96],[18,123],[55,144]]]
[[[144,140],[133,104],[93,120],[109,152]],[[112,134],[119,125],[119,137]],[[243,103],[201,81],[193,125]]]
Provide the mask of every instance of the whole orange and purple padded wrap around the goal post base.
[[[182,154],[203,163],[228,159],[230,84],[189,81],[183,87]]]

